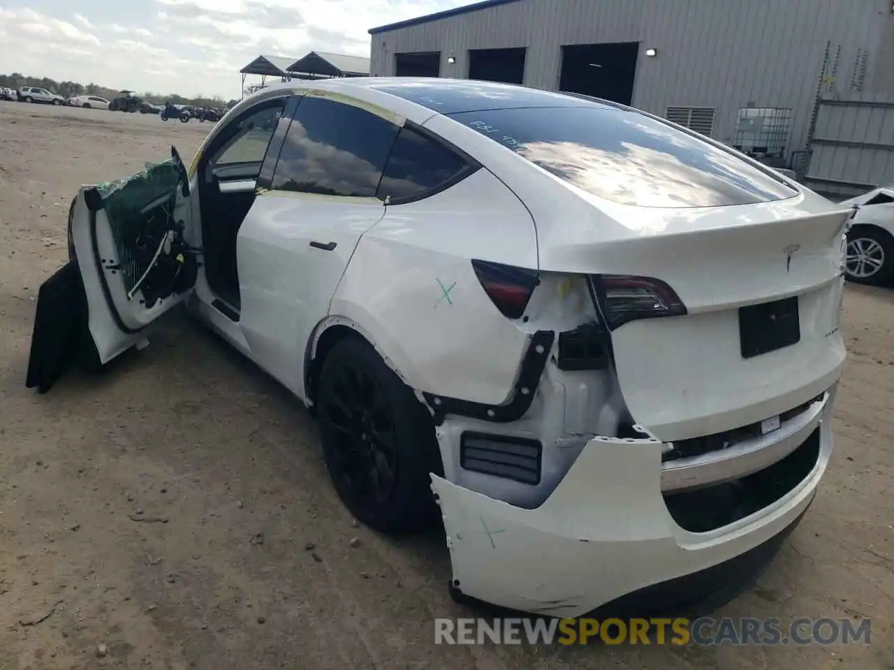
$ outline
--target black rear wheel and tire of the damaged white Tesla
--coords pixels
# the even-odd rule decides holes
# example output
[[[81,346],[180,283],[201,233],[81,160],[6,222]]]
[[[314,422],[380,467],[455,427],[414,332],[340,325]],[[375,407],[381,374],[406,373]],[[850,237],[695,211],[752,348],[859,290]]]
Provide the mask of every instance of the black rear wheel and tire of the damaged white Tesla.
[[[329,352],[316,397],[326,467],[350,513],[379,532],[436,519],[429,473],[443,472],[434,423],[366,341]]]

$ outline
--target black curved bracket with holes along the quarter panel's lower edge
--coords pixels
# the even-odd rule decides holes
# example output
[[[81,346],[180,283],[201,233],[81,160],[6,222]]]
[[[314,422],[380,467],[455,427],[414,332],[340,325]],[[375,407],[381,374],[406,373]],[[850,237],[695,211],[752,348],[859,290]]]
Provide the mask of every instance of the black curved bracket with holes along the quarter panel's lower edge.
[[[515,389],[513,389],[509,402],[503,405],[485,405],[470,400],[444,398],[434,393],[424,392],[423,397],[434,410],[434,423],[441,425],[445,415],[469,416],[493,423],[518,421],[534,402],[537,385],[544,373],[554,341],[555,332],[553,331],[537,331],[534,334],[521,362],[519,380],[515,383]]]

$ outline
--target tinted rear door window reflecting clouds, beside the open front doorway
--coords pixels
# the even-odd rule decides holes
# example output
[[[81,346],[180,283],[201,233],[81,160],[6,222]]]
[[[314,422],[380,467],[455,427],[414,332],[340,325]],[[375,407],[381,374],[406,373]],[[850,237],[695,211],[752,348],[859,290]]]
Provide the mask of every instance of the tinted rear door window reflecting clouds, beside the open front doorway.
[[[305,97],[285,136],[272,189],[375,197],[397,132],[391,121],[359,107]]]

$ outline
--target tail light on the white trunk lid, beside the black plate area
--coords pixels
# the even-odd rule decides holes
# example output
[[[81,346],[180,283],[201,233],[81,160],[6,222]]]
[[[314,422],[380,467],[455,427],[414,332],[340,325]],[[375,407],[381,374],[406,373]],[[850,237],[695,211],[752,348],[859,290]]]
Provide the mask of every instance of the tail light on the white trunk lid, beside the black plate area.
[[[652,277],[591,275],[595,297],[609,330],[637,319],[681,316],[686,306],[670,286]]]

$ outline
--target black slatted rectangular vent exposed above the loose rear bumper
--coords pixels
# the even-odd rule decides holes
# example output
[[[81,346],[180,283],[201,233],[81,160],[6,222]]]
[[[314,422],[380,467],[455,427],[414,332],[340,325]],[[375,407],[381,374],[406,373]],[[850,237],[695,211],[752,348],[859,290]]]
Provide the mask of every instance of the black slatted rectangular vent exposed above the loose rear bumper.
[[[473,473],[539,484],[542,456],[538,440],[484,432],[464,432],[460,437],[460,465]]]

